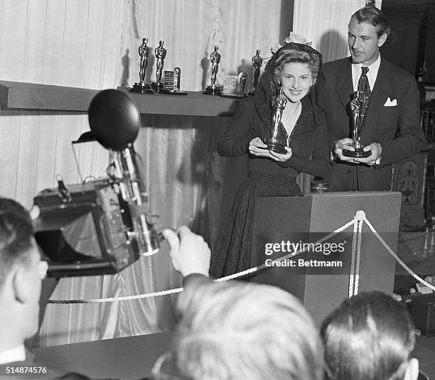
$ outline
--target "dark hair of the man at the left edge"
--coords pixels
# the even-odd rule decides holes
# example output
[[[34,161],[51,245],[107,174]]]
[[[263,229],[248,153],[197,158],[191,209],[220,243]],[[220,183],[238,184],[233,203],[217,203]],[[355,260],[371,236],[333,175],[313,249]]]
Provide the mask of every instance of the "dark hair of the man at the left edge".
[[[0,197],[0,287],[11,268],[28,263],[32,244],[32,221],[26,209],[14,200]]]

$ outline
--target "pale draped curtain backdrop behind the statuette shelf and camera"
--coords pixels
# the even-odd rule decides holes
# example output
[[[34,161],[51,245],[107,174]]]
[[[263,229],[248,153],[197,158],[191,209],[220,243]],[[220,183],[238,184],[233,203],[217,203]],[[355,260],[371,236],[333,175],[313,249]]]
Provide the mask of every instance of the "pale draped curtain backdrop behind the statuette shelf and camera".
[[[48,85],[116,88],[139,75],[141,39],[149,38],[146,78],[155,78],[154,48],[164,40],[164,70],[181,67],[181,87],[210,83],[210,53],[220,48],[218,84],[245,71],[252,80],[257,48],[280,39],[281,0],[0,0],[0,79]],[[147,95],[144,95],[147,96]],[[149,95],[152,96],[152,95]],[[87,115],[1,109],[0,195],[30,207],[33,196],[80,176],[70,142],[89,130]],[[142,115],[135,142],[146,167],[158,228],[189,224],[213,241],[218,229],[225,159],[216,141],[228,118]],[[104,175],[107,153],[75,146],[83,175]],[[168,248],[114,276],[63,278],[53,299],[135,295],[181,284]],[[171,297],[127,302],[48,305],[41,345],[146,334],[173,327]]]

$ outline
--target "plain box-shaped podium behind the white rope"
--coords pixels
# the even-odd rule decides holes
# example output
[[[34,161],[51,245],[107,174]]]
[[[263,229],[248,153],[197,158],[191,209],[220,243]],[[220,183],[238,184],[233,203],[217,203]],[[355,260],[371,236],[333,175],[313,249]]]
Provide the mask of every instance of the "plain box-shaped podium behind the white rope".
[[[286,253],[265,254],[265,244],[281,241],[318,241],[352,221],[358,210],[372,224],[394,253],[399,231],[400,192],[326,192],[304,197],[259,197],[255,205],[251,266]],[[249,281],[279,286],[296,295],[319,324],[326,315],[349,296],[352,264],[353,224],[331,238],[342,244],[340,268],[289,268],[268,266],[254,273]],[[358,292],[392,293],[395,260],[363,222],[360,239]],[[270,252],[269,252],[270,253]],[[310,259],[311,252],[294,259]],[[324,256],[321,254],[321,256]]]

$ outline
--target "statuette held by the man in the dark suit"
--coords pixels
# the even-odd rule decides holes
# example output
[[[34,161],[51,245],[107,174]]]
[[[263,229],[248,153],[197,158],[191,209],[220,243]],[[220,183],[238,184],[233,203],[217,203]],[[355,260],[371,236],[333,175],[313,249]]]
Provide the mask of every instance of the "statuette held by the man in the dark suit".
[[[368,157],[372,154],[372,151],[364,151],[364,145],[360,142],[360,130],[364,121],[365,109],[367,109],[367,104],[369,97],[364,94],[363,91],[355,91],[353,94],[353,99],[350,101],[350,109],[352,111],[352,146],[355,151],[347,151],[343,149],[343,156],[361,158]]]

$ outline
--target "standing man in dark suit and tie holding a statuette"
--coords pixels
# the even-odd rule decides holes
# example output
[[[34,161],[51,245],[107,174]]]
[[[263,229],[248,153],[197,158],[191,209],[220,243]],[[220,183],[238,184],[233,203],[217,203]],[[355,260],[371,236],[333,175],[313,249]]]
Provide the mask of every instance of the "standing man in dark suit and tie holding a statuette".
[[[331,146],[331,191],[391,190],[392,164],[421,149],[419,94],[414,77],[380,56],[390,34],[387,18],[374,6],[356,11],[348,26],[350,57],[326,63],[325,110]],[[350,139],[354,92],[368,97],[360,129],[366,158],[343,156],[354,151]]]

